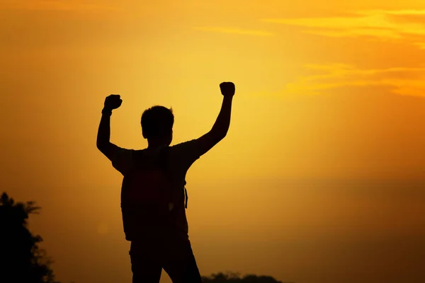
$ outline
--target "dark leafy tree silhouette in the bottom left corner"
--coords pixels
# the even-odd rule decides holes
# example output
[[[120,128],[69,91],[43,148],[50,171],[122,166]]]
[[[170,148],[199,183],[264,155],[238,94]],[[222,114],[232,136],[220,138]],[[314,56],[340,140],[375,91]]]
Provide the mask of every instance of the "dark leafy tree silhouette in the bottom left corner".
[[[0,197],[0,282],[59,283],[50,268],[52,260],[39,248],[39,235],[28,230],[28,217],[38,214],[35,202],[15,202]]]

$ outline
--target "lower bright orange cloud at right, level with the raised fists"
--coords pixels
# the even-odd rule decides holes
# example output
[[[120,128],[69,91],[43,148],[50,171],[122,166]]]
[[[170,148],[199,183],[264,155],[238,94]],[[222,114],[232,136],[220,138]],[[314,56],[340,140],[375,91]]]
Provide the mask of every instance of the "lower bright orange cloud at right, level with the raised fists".
[[[317,72],[288,83],[285,94],[317,94],[345,87],[381,86],[392,93],[425,96],[425,67],[358,69],[347,64],[307,65]]]

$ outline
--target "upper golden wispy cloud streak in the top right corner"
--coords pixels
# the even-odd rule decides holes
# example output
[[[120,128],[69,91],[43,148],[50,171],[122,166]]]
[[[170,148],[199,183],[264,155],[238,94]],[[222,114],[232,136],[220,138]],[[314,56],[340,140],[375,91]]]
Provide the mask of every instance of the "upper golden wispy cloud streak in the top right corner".
[[[327,37],[375,37],[397,40],[408,35],[425,37],[425,10],[369,10],[352,16],[321,18],[268,18],[262,21],[295,25],[304,33]]]

